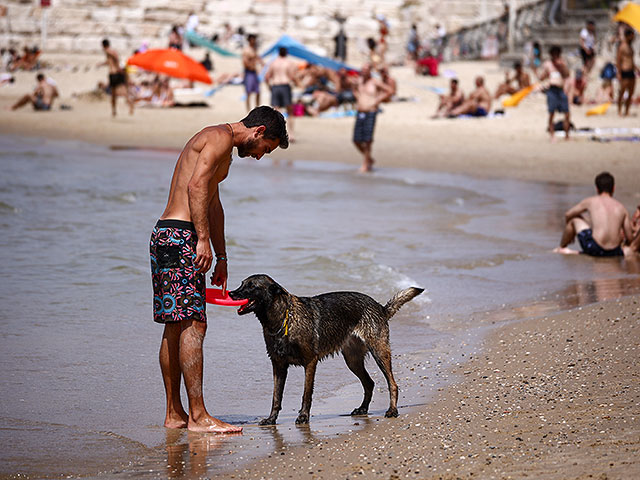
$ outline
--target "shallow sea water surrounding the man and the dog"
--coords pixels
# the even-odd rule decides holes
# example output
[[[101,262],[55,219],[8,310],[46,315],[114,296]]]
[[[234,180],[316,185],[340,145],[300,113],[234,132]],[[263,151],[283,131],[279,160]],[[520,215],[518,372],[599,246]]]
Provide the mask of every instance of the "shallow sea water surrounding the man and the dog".
[[[341,358],[318,368],[310,427],[296,427],[303,372],[290,372],[275,428],[259,323],[208,307],[205,399],[242,436],[161,427],[148,240],[175,153],[109,151],[0,136],[0,476],[200,477],[283,445],[381,419],[377,367],[368,418]],[[268,273],[297,295],[358,290],[384,303],[426,288],[394,317],[403,409],[428,401],[497,320],[535,317],[640,291],[624,260],[552,255],[582,187],[460,175],[236,159],[221,189],[229,287]],[[630,206],[630,205],[629,205]],[[457,345],[451,349],[450,345]],[[195,455],[194,455],[195,453]]]

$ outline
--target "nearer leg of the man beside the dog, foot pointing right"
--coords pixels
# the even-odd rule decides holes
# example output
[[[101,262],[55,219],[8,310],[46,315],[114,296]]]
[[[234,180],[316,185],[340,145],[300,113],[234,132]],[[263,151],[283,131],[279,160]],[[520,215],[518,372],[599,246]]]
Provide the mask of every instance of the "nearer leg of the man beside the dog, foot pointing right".
[[[235,427],[212,417],[204,406],[202,397],[203,355],[202,342],[207,324],[193,319],[181,322],[180,367],[189,397],[189,430],[200,432],[233,433],[241,432]]]

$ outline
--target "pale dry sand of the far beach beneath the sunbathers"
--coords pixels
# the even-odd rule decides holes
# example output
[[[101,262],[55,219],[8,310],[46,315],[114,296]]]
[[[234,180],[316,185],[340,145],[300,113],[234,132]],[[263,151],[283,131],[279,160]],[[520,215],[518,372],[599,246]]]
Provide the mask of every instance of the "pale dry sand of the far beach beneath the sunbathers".
[[[0,132],[89,143],[181,149],[205,125],[239,120],[246,114],[239,86],[226,86],[211,97],[199,94],[185,100],[203,98],[209,108],[137,108],[133,116],[126,112],[119,99],[119,113],[111,118],[107,99],[87,97],[106,78],[106,70],[97,68],[102,55],[66,57],[47,55],[51,68],[47,75],[58,83],[61,98],[50,112],[33,112],[23,108],[0,117]],[[216,71],[233,72],[239,64],[235,59],[217,60]],[[483,75],[493,88],[503,79],[503,69],[497,62],[452,62],[447,69],[455,72],[463,91],[468,92],[475,75]],[[398,82],[398,95],[410,101],[392,102],[382,106],[378,116],[373,144],[376,167],[408,167],[437,172],[463,173],[482,178],[513,178],[551,183],[589,184],[603,170],[610,170],[617,179],[617,191],[634,195],[640,202],[635,178],[640,177],[640,165],[635,161],[637,143],[629,141],[595,142],[589,137],[574,137],[565,142],[558,138],[550,143],[545,133],[546,103],[543,94],[533,93],[517,108],[507,109],[501,118],[430,119],[438,96],[430,88],[446,88],[445,77],[416,76],[408,67],[393,67]],[[0,90],[0,108],[10,106],[16,98],[30,92],[33,72],[17,72],[16,83]],[[596,79],[589,83],[595,90]],[[262,103],[268,103],[267,88],[262,88]],[[71,110],[60,110],[65,104]],[[500,108],[494,100],[493,109]],[[637,118],[619,118],[615,112],[587,117],[589,105],[572,108],[576,128],[637,127]],[[633,112],[637,114],[637,107]],[[296,117],[296,142],[288,150],[277,151],[274,158],[283,161],[328,161],[353,165],[361,156],[351,142],[353,118]]]

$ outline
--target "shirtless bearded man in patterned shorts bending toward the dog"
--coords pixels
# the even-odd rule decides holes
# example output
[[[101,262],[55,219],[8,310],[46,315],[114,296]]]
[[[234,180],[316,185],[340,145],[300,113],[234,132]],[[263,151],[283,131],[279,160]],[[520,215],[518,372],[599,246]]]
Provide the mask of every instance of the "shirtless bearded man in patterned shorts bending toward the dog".
[[[259,160],[289,140],[282,114],[253,109],[239,122],[206,127],[191,138],[176,164],[164,213],[151,234],[154,321],[164,324],[160,368],[166,392],[164,426],[193,431],[240,432],[207,412],[202,396],[202,342],[207,330],[205,274],[216,263],[213,285],[227,288],[224,211],[219,183],[229,173],[233,147]],[[189,414],[180,400],[184,378]]]

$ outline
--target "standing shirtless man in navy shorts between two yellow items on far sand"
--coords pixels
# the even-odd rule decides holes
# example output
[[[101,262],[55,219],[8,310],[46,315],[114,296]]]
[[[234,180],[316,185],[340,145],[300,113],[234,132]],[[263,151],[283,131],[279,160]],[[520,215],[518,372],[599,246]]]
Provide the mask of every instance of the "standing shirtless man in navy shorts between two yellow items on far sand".
[[[547,130],[551,140],[554,139],[555,127],[553,116],[555,112],[564,113],[565,140],[569,140],[569,99],[564,92],[564,84],[569,78],[569,67],[562,58],[562,49],[553,45],[549,49],[551,58],[542,64],[542,72],[538,74],[540,81],[548,79],[545,93],[547,94],[547,110],[549,111],[549,124]]]

